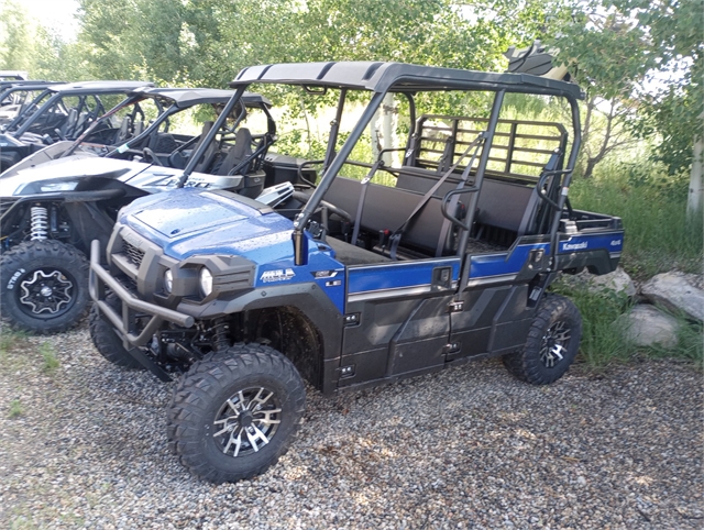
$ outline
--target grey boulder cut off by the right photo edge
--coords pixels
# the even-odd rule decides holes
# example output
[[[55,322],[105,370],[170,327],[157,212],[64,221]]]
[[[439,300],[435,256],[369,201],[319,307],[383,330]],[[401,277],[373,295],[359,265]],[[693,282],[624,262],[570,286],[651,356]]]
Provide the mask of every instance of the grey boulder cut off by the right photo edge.
[[[659,274],[646,281],[640,291],[652,303],[704,321],[704,290],[700,278],[694,274]]]

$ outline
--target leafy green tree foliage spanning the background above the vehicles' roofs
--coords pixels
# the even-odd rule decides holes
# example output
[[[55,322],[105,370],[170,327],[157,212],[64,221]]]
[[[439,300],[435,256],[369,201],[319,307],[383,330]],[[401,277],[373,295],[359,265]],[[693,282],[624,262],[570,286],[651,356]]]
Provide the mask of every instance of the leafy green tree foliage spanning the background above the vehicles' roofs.
[[[539,37],[559,51],[558,63],[572,66],[590,97],[616,103],[606,126],[585,119],[583,173],[622,143],[609,137],[612,121],[657,137],[654,159],[676,173],[691,163],[704,110],[703,2],[79,0],[78,40],[65,43],[32,21],[19,0],[7,0],[0,67],[29,69],[34,78],[223,87],[244,66],[286,62],[400,60],[496,71],[509,45]],[[671,75],[656,92],[642,91],[653,71]],[[276,104],[297,108],[297,95],[276,96]],[[471,108],[476,115],[488,108],[482,98],[457,98],[438,111]]]

